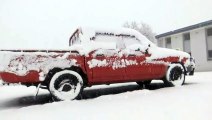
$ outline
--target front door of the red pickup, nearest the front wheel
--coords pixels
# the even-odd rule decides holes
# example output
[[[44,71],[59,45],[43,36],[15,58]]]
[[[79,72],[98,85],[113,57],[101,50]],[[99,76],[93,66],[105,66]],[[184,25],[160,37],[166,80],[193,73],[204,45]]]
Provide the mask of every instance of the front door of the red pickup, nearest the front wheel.
[[[149,47],[148,49],[151,49]],[[124,54],[126,61],[126,77],[132,81],[160,79],[164,76],[166,65],[157,59],[152,59],[153,54],[159,54],[157,51],[149,53],[145,51],[128,50]],[[154,55],[157,56],[157,55]]]

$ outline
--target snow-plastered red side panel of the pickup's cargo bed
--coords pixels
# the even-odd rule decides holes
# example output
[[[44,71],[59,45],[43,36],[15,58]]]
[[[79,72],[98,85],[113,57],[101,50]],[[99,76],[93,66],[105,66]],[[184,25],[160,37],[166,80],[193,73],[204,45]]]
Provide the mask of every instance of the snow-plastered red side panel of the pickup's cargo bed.
[[[70,68],[72,65],[82,68],[83,72],[86,74],[84,56],[80,56],[77,53],[71,53],[70,51],[54,52],[54,54],[36,51],[22,53],[14,52],[11,54],[14,55],[11,55],[8,67],[5,68],[4,71],[0,71],[1,79],[8,83],[39,83],[44,81],[51,69],[55,67],[66,69]],[[48,62],[48,60],[51,62]],[[62,65],[63,60],[66,62],[70,61],[70,63],[76,61],[76,63],[65,66]],[[22,74],[19,74],[20,71],[23,71]]]

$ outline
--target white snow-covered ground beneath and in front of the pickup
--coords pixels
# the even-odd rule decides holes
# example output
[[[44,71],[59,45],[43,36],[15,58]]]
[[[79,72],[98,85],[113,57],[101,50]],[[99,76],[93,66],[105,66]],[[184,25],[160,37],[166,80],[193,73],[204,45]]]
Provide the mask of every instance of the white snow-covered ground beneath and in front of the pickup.
[[[186,78],[182,87],[153,82],[87,88],[82,100],[51,102],[48,91],[34,98],[34,87],[0,87],[0,120],[211,120],[212,72]]]

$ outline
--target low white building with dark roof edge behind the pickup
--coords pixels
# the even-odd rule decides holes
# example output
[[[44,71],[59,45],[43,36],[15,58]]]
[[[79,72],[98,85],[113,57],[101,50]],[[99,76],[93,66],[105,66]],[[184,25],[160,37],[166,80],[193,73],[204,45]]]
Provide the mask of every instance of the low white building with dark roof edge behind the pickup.
[[[212,70],[212,20],[156,36],[159,47],[188,52],[197,71]]]

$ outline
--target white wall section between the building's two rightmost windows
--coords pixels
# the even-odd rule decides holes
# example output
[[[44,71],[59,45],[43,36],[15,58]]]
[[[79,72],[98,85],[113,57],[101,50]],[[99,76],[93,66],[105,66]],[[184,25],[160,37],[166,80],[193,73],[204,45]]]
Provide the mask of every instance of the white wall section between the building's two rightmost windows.
[[[212,70],[212,61],[208,60],[206,47],[206,31],[205,28],[193,30],[190,32],[191,52],[196,60],[197,71]]]

